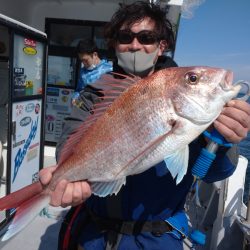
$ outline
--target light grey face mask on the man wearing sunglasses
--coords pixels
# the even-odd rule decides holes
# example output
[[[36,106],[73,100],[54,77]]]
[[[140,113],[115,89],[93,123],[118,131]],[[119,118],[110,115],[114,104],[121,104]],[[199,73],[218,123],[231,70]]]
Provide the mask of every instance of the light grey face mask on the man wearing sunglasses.
[[[118,65],[121,66],[126,73],[131,73],[137,76],[146,76],[154,69],[155,57],[159,49],[152,53],[142,51],[123,52],[116,51]]]

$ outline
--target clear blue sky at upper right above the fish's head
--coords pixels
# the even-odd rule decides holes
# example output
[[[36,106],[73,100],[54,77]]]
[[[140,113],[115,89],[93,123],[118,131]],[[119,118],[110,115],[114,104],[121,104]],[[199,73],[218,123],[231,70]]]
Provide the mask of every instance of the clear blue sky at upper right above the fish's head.
[[[250,0],[206,0],[182,17],[175,61],[231,69],[234,81],[250,81]]]

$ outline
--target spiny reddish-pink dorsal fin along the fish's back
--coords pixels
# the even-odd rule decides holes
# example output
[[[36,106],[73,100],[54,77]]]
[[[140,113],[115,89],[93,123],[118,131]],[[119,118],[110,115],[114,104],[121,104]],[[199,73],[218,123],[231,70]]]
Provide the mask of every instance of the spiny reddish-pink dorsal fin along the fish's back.
[[[123,79],[114,78],[112,75],[119,75],[123,77]],[[97,98],[98,102],[94,104],[93,108],[90,110],[91,115],[89,115],[87,119],[77,129],[75,129],[67,139],[67,142],[63,146],[63,149],[60,153],[58,167],[74,152],[75,147],[83,138],[86,131],[96,122],[99,117],[105,113],[114,100],[140,79],[114,72],[112,72],[112,75],[103,75],[93,85],[95,88],[99,89],[98,92],[101,95]]]

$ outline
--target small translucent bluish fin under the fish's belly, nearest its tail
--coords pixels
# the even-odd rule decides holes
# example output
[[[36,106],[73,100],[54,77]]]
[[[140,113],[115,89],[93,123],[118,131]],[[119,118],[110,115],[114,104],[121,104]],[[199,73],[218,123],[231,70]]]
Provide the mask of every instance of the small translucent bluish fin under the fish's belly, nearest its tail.
[[[112,182],[92,182],[92,193],[100,197],[105,197],[111,194],[117,194],[121,187],[126,184],[126,178],[121,178]]]

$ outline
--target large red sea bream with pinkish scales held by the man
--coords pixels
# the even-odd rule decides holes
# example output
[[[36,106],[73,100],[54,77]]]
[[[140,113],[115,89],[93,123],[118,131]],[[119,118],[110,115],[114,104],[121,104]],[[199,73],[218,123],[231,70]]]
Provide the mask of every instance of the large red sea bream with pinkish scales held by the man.
[[[50,184],[34,183],[0,199],[17,208],[4,240],[20,231],[50,202],[61,179],[87,180],[98,196],[118,193],[126,176],[165,160],[177,184],[188,165],[188,144],[235,97],[232,73],[210,67],[176,67],[144,79],[106,77],[93,115],[65,144]],[[117,97],[118,96],[118,97]]]

